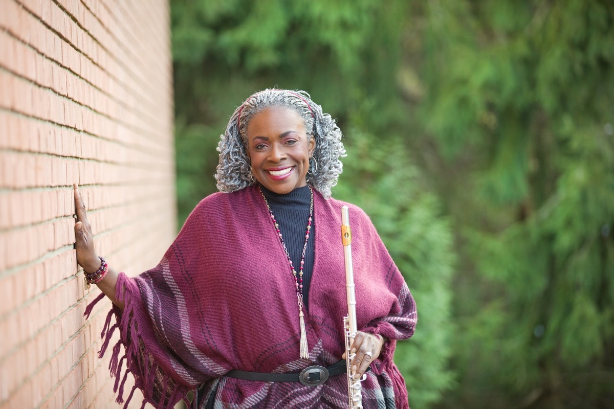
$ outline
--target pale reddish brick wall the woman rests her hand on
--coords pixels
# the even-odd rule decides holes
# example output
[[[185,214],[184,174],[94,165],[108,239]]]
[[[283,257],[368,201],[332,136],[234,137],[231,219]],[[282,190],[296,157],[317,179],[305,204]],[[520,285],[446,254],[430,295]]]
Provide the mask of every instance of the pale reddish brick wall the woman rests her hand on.
[[[109,264],[157,264],[176,233],[169,50],[165,0],[0,0],[0,409],[118,407],[72,183]]]

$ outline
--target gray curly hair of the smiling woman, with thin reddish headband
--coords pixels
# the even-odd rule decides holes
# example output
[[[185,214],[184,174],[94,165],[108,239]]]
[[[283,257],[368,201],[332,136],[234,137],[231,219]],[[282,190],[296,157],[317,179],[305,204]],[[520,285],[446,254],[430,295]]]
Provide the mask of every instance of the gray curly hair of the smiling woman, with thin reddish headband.
[[[311,101],[305,91],[267,89],[252,94],[230,117],[226,132],[220,136],[217,151],[220,161],[217,165],[217,189],[230,193],[254,185],[251,164],[247,156],[247,125],[254,115],[272,107],[289,107],[299,113],[305,121],[307,134],[314,137],[316,149],[313,161],[309,161],[307,183],[330,197],[330,189],[336,185],[343,165],[339,158],[346,156],[341,142],[341,129],[322,107]]]

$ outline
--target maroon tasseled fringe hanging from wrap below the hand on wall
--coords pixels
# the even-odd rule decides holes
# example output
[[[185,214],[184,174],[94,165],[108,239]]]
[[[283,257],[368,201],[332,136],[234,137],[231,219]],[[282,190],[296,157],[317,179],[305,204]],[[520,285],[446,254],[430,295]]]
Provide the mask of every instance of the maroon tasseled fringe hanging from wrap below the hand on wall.
[[[134,303],[131,302],[132,297],[128,289],[129,283],[127,280],[128,277],[123,273],[117,277],[116,297],[118,301],[123,302],[125,307],[122,311],[116,305],[113,305],[111,311],[107,314],[103,331],[100,334],[101,339],[104,341],[98,351],[98,357],[104,356],[109,348],[109,343],[111,342],[115,330],[119,329],[120,338],[112,348],[111,361],[109,362],[109,372],[111,376],[115,378],[113,386],[113,392],[117,393],[115,402],[124,403],[123,409],[128,408],[134,391],[138,388],[141,389],[144,396],[141,408],[144,408],[147,402],[152,403],[152,405],[158,409],[165,409],[166,407],[171,408],[175,402],[186,400],[185,396],[190,389],[177,383],[176,380],[171,379],[160,367],[158,367],[158,364],[149,362],[149,359],[147,359],[147,348],[142,345],[143,337],[138,329],[138,321],[141,317]],[[90,318],[95,305],[104,297],[104,293],[101,293],[87,305],[84,312],[84,316],[87,319]],[[117,321],[115,324],[111,325],[114,315]],[[125,354],[120,358],[119,355],[122,346],[125,350]],[[125,368],[123,367],[124,361],[126,364]],[[130,394],[128,394],[128,398],[124,400],[123,392],[126,380],[128,379],[128,373],[133,374],[134,386]],[[153,398],[156,395],[155,384],[157,378],[163,385],[161,391],[158,391],[158,394],[160,394],[159,400]],[[171,384],[173,388],[168,391],[167,389]],[[193,405],[189,405],[189,402],[188,406],[194,407]]]

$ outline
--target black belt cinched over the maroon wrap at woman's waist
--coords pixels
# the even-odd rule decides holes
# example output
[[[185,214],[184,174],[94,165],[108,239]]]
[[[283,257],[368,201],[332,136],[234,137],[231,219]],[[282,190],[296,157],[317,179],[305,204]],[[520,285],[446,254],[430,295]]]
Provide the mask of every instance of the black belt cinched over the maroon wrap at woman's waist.
[[[324,383],[329,377],[346,373],[347,370],[348,367],[345,359],[341,359],[341,361],[335,362],[328,368],[313,365],[306,367],[300,373],[265,373],[233,369],[228,372],[226,376],[247,381],[300,382],[308,386],[318,386]]]

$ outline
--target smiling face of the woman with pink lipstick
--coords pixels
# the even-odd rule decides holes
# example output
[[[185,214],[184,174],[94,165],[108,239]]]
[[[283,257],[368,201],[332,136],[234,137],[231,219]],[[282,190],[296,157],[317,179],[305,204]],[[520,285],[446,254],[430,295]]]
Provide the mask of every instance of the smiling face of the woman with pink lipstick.
[[[305,186],[309,156],[316,142],[305,131],[305,121],[288,107],[269,107],[247,124],[247,156],[252,174],[278,194]]]

